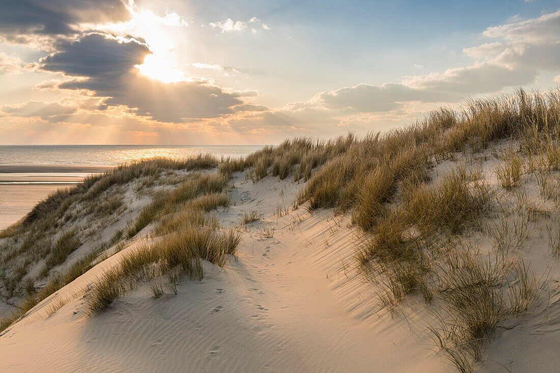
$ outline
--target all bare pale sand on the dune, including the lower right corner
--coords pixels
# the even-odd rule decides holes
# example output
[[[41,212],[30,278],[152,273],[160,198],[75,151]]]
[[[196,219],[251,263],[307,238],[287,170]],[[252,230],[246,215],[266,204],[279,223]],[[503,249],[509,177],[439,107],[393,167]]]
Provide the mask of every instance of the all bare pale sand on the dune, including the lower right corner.
[[[243,180],[234,180],[235,206],[220,211],[223,225],[239,223],[249,208],[265,220],[243,232],[238,258],[225,268],[204,263],[204,279],[181,281],[177,296],[167,291],[153,300],[142,285],[86,318],[84,289],[144,239],[133,241],[8,328],[0,336],[0,371],[455,371],[433,345],[419,298],[405,301],[394,318],[380,310],[379,288],[354,271],[359,232],[349,217],[300,208],[277,218],[278,203],[290,206],[302,184]],[[267,225],[274,236],[264,239],[259,229]],[[558,371],[560,275],[545,241],[530,240],[522,255],[533,271],[551,271],[550,305],[544,300],[521,325],[498,330],[480,371]],[[67,298],[73,300],[48,315]]]

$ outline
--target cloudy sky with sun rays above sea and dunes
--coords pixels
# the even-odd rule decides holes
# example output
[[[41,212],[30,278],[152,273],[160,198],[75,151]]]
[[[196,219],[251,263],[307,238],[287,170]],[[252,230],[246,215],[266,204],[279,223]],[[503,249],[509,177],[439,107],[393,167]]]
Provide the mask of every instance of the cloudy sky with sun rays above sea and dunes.
[[[560,84],[557,1],[0,7],[0,144],[274,144]]]

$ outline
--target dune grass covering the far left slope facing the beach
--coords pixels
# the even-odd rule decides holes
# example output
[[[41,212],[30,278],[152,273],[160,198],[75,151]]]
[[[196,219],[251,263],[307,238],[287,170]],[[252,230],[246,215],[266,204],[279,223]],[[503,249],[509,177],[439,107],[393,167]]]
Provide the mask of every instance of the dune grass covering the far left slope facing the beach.
[[[122,185],[147,178],[165,178],[171,171],[195,171],[217,165],[216,158],[209,155],[185,160],[152,158],[121,165],[105,174],[88,176],[83,183],[72,188],[60,189],[50,194],[24,219],[1,231],[0,281],[3,286],[0,290],[6,299],[16,297],[15,302],[19,303],[11,321],[88,269],[89,255],[97,254],[96,250],[83,258],[85,262],[78,260],[76,265],[67,268],[62,277],[55,275],[46,286],[35,290],[34,283],[66,262],[82,241],[90,239],[96,228],[101,230],[110,225],[113,222],[110,217],[125,208]],[[209,184],[206,189],[221,191],[221,184]],[[177,195],[172,197],[180,199]],[[226,204],[223,198],[216,197],[211,203],[216,201]],[[109,241],[113,242],[112,239]],[[43,267],[38,274],[31,276],[30,269],[41,260],[44,260]],[[28,294],[27,299],[17,302],[17,297],[21,297],[23,293]],[[11,324],[11,321],[8,323],[4,320],[3,324]]]

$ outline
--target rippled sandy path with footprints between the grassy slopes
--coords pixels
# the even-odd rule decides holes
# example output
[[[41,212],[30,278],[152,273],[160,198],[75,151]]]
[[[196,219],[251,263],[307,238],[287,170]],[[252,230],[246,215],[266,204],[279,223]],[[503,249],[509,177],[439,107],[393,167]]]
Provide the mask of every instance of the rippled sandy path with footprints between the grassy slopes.
[[[0,339],[0,370],[449,371],[403,319],[375,314],[370,285],[340,271],[351,232],[332,233],[323,218],[289,230],[285,216],[270,239],[251,227],[237,260],[225,269],[206,263],[204,279],[181,282],[178,296],[153,300],[143,286],[88,319],[82,299],[48,318],[45,302]]]

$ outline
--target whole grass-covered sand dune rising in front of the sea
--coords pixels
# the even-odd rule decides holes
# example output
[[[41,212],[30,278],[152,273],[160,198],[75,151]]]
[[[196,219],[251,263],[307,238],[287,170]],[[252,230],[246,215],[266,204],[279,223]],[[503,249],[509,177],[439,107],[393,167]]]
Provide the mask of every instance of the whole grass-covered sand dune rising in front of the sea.
[[[519,95],[54,195],[0,238],[0,371],[557,371],[560,146]]]

